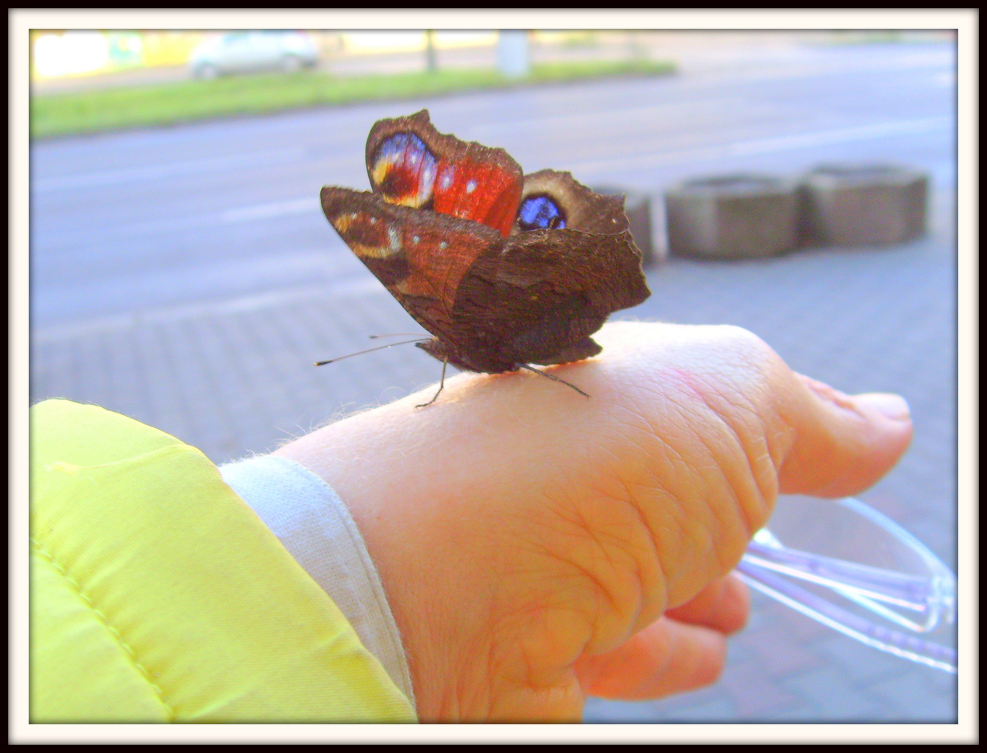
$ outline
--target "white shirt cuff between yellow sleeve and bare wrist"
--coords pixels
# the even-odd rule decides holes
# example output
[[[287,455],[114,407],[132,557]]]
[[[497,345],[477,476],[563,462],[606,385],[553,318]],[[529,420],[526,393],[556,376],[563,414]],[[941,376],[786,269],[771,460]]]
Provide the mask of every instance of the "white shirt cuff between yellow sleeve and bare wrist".
[[[329,594],[414,707],[398,625],[363,537],[336,491],[307,468],[270,455],[228,463],[219,473]]]

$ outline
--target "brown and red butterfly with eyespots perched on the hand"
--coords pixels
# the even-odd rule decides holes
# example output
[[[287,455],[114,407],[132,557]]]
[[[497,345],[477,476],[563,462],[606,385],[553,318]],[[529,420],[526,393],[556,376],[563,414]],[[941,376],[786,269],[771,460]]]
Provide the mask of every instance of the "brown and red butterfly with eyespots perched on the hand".
[[[623,196],[569,173],[526,176],[503,149],[439,133],[426,110],[374,123],[366,167],[372,190],[327,186],[322,208],[434,336],[417,343],[442,361],[426,406],[449,363],[564,381],[531,364],[596,355],[607,317],[650,295]]]

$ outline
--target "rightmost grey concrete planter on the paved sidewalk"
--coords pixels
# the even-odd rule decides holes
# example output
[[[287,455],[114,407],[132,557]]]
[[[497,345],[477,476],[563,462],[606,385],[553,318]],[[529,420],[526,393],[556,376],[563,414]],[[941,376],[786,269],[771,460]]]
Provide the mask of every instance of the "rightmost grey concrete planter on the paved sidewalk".
[[[885,246],[925,233],[927,175],[894,165],[820,165],[799,186],[802,243]]]

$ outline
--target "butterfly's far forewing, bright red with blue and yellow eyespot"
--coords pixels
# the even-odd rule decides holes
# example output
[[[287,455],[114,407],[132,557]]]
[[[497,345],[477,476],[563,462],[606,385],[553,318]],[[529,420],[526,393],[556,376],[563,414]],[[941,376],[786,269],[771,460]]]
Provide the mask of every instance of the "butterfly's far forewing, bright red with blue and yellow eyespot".
[[[374,192],[402,206],[431,209],[510,233],[521,197],[520,166],[503,149],[439,133],[422,110],[378,120],[366,145]]]

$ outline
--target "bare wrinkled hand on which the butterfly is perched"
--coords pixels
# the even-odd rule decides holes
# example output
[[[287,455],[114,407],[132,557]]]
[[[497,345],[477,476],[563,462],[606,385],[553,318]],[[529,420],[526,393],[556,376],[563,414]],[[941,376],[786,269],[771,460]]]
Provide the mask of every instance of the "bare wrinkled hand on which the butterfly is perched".
[[[461,374],[277,450],[336,489],[376,562],[423,721],[575,721],[721,673],[729,574],[778,493],[872,486],[907,404],[839,393],[734,327],[608,325],[596,358]]]

